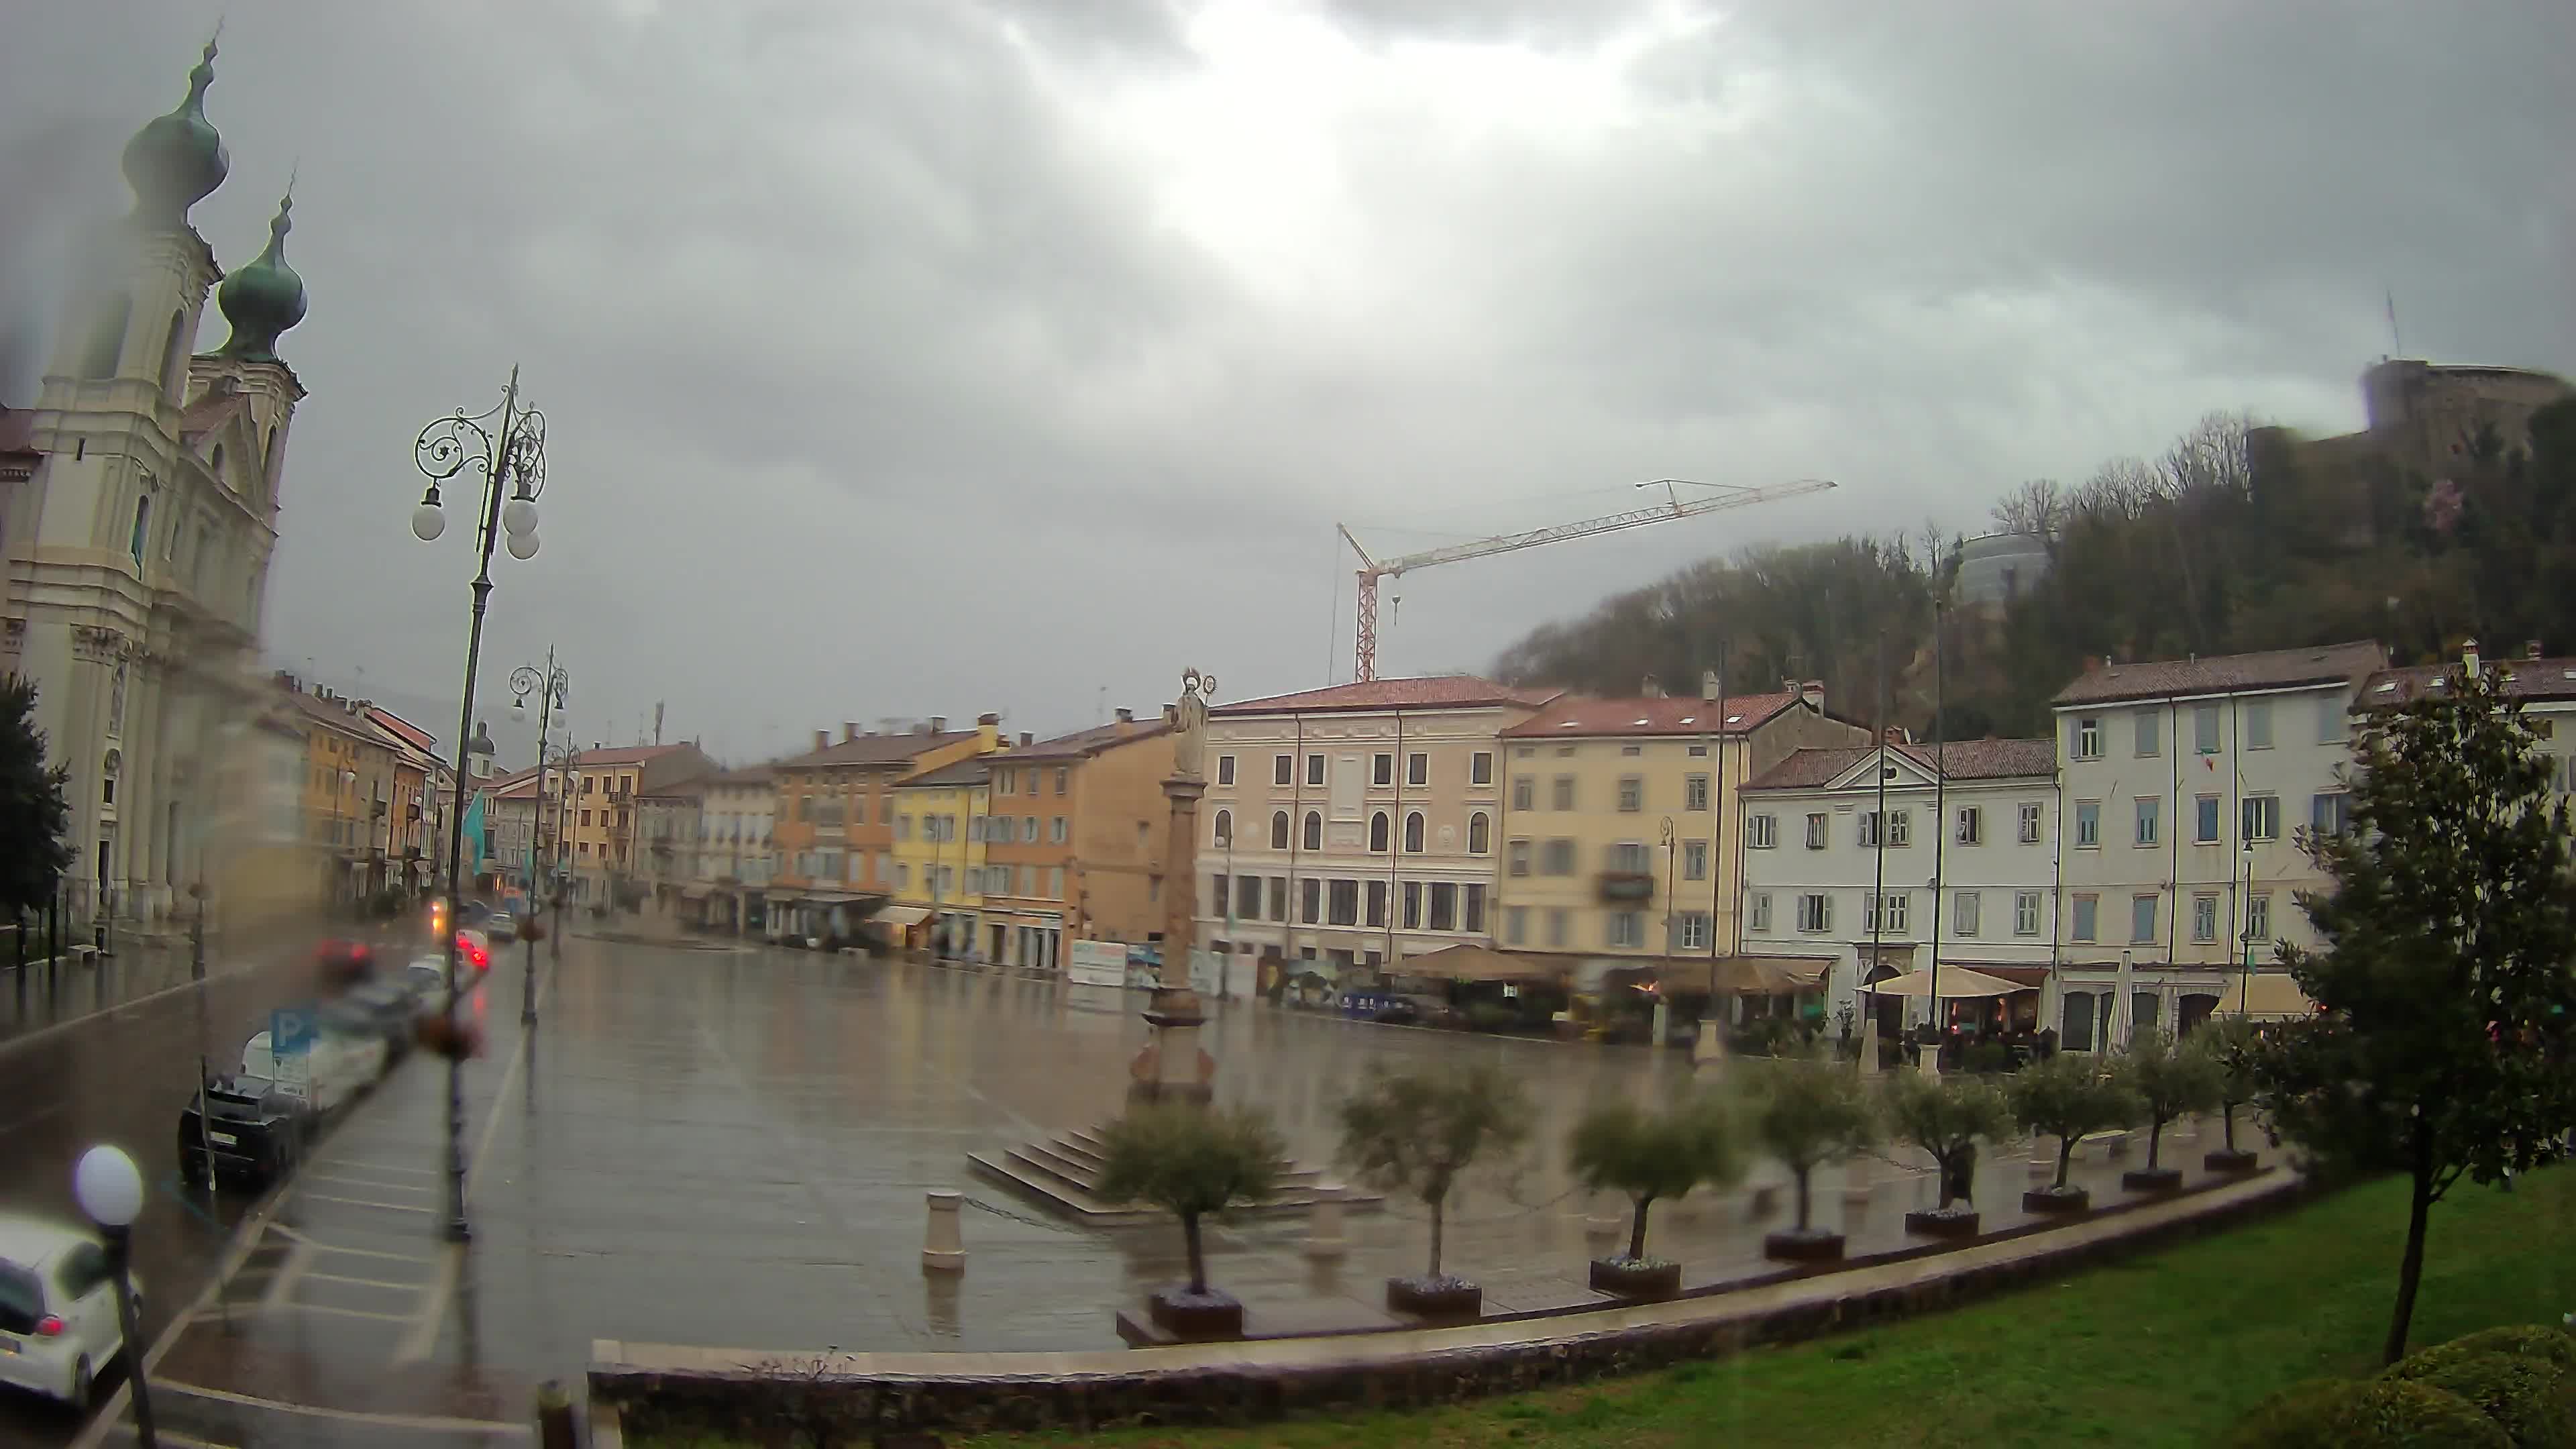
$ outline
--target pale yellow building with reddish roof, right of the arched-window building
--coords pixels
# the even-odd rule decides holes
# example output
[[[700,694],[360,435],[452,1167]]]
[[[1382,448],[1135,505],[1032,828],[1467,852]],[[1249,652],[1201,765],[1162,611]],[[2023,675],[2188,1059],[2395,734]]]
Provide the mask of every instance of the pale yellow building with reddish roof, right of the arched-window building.
[[[1651,681],[1649,681],[1651,688]],[[1824,686],[1700,699],[1561,696],[1502,730],[1502,890],[1494,941],[1564,954],[1577,990],[1636,959],[1736,951],[1736,789],[1793,750],[1868,743]],[[1600,969],[1582,969],[1607,962]],[[1687,972],[1680,972],[1687,977]]]

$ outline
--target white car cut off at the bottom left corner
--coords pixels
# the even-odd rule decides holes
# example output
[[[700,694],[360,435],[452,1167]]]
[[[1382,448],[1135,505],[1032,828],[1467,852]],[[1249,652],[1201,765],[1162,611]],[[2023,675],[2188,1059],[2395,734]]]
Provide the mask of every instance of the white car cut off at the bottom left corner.
[[[134,1318],[142,1312],[134,1281]],[[0,1385],[88,1408],[98,1369],[124,1351],[106,1243],[39,1217],[0,1217]]]

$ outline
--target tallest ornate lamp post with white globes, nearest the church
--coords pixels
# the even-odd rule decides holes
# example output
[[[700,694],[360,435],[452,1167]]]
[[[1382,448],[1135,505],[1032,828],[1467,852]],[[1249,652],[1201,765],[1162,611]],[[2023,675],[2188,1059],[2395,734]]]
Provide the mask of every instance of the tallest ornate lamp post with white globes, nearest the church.
[[[500,407],[466,415],[459,407],[438,418],[412,438],[412,467],[430,480],[412,508],[412,536],[430,544],[448,529],[438,485],[461,472],[482,474],[482,500],[474,516],[474,614],[466,627],[466,683],[456,706],[456,799],[448,820],[448,920],[464,908],[464,856],[466,856],[466,776],[471,773],[469,735],[474,732],[474,673],[482,668],[482,621],[492,598],[492,544],[510,539],[513,559],[536,557],[536,498],[546,490],[546,415],[518,400],[518,369],[502,387]],[[507,503],[502,503],[507,492]],[[448,967],[448,1220],[446,1238],[464,1243],[474,1232],[466,1227],[466,1093],[464,1049],[456,1031],[456,931],[440,931]]]

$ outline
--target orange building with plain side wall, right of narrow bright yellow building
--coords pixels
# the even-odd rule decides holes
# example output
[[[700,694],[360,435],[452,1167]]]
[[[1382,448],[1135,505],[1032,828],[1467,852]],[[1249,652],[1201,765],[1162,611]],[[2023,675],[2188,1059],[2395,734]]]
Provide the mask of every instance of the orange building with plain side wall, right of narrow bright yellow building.
[[[1061,972],[1064,941],[1159,938],[1170,727],[1121,709],[989,766],[984,959]]]

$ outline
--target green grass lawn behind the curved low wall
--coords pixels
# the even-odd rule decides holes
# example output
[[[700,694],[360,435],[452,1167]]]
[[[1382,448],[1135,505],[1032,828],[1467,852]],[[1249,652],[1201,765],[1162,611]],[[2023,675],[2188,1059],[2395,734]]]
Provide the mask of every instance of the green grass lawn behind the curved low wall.
[[[1425,1413],[951,1444],[2205,1444],[2282,1385],[2378,1366],[2403,1230],[2403,1183],[2380,1181],[1958,1312],[1633,1379]],[[2496,1323],[2558,1323],[2568,1310],[2576,1310],[2576,1171],[2543,1171],[2514,1194],[2460,1183],[2452,1201],[2434,1207],[2414,1346]]]

